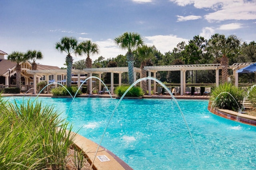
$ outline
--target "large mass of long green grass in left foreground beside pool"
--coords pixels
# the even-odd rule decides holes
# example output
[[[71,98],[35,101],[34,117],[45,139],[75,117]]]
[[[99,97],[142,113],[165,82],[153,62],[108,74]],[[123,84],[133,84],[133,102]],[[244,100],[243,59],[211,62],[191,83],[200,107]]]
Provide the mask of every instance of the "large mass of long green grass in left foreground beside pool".
[[[52,106],[0,98],[0,170],[63,170],[74,139],[67,129]]]

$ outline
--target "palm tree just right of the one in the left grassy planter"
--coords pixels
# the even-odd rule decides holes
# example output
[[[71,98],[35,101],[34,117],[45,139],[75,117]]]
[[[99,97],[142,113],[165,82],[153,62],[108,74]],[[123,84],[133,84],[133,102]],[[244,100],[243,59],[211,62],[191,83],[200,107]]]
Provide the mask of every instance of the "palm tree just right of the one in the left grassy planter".
[[[99,54],[99,47],[96,43],[92,43],[92,41],[87,40],[83,41],[79,44],[82,53],[86,55],[86,68],[92,68],[92,59],[91,55]],[[87,74],[89,75],[89,73]],[[90,94],[90,80],[87,81],[87,92]]]

